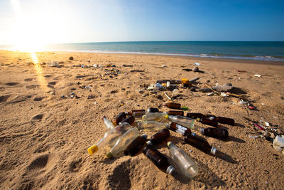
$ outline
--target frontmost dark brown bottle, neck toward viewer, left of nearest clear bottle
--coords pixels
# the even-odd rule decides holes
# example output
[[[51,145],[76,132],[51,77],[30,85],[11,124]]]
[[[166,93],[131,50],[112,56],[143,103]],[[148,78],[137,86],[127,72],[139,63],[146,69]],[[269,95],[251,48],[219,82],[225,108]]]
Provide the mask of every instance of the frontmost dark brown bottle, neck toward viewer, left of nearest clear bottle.
[[[175,168],[170,165],[168,159],[152,145],[147,145],[143,149],[143,154],[148,157],[148,159],[150,159],[160,170],[168,174],[173,174],[173,171],[175,171]]]

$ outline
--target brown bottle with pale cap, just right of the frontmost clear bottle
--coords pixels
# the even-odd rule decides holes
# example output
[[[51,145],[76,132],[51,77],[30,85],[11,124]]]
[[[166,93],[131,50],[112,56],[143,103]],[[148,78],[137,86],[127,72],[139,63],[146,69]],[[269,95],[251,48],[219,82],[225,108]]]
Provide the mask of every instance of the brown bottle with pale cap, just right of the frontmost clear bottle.
[[[196,136],[193,136],[191,134],[187,134],[185,137],[185,142],[187,144],[192,145],[192,147],[195,147],[197,149],[202,150],[206,153],[216,154],[217,149],[212,147],[206,140],[200,139]]]

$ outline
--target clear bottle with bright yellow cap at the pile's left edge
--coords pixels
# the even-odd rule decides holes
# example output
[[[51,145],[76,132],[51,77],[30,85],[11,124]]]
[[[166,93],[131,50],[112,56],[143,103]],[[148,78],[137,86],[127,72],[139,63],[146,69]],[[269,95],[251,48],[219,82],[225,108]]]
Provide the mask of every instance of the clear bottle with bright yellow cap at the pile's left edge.
[[[96,144],[92,145],[92,147],[88,148],[89,154],[94,154],[97,152],[99,149],[102,149],[105,146],[113,147],[114,144],[116,143],[117,139],[124,134],[127,130],[131,128],[131,125],[129,123],[124,122],[121,123],[120,125],[114,127],[114,129],[106,132],[104,134],[104,137],[99,140]]]

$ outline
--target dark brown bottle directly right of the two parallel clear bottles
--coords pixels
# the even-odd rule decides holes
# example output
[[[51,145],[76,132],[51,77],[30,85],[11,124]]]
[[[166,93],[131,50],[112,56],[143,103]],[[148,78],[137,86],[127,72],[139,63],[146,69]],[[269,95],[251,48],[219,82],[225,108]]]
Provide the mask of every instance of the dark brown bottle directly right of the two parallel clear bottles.
[[[141,153],[143,150],[143,147],[145,147],[147,142],[147,136],[146,134],[136,137],[136,139],[129,144],[128,147],[124,150],[125,155],[130,155],[131,157],[136,156],[137,154]]]

